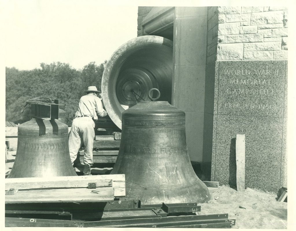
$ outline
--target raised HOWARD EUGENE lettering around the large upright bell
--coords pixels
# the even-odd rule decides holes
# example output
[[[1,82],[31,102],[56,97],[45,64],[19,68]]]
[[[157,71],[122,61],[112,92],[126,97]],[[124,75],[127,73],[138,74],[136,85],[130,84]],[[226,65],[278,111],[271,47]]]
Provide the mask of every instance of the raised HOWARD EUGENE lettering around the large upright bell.
[[[135,147],[135,146],[127,146],[126,152],[130,153],[148,153],[154,154],[156,151],[160,152],[161,154],[165,153],[178,153],[187,151],[187,145],[179,146],[179,147],[160,147],[160,148],[152,148],[152,147]]]

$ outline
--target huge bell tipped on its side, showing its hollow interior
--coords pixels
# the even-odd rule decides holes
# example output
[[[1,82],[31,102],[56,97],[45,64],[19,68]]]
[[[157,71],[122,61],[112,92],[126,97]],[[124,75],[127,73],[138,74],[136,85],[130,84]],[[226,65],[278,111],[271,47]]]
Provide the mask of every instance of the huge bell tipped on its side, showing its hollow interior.
[[[124,43],[104,68],[102,94],[108,115],[121,129],[122,112],[139,101],[149,101],[151,88],[160,90],[160,101],[171,103],[172,77],[171,40],[145,35]]]

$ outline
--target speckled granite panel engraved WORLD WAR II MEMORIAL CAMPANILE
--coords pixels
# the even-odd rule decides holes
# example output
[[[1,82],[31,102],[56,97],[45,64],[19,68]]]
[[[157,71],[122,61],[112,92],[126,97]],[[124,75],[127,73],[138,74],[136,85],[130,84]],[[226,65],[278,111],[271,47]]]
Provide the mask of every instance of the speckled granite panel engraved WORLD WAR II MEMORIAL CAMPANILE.
[[[287,62],[219,61],[216,65],[211,179],[235,186],[235,137],[245,134],[245,186],[275,192],[283,181]]]

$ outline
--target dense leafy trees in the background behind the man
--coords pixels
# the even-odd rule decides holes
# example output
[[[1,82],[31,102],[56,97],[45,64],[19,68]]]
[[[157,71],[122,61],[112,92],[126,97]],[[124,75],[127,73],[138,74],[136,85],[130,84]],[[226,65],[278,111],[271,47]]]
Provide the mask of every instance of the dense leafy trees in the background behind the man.
[[[16,124],[28,121],[21,113],[26,100],[50,97],[65,105],[60,108],[66,112],[66,123],[72,124],[79,99],[87,87],[101,90],[105,64],[106,61],[99,65],[90,62],[82,70],[60,62],[41,63],[40,68],[29,71],[6,67],[6,121]]]

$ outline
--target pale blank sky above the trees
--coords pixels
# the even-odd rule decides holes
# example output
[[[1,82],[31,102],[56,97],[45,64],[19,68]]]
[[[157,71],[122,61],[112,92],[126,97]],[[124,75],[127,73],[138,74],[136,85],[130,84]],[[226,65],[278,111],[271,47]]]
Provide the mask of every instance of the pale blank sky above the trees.
[[[31,70],[59,61],[82,69],[108,60],[137,37],[138,6],[102,2],[4,1],[5,66]]]

